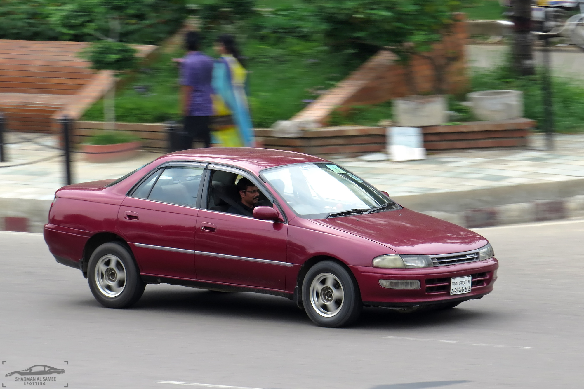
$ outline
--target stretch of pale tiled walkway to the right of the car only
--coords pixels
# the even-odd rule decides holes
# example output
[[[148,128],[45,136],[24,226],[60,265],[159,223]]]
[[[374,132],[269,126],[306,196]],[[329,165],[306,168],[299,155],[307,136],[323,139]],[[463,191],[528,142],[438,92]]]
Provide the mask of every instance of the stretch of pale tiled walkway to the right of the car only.
[[[543,136],[536,134],[527,150],[447,151],[408,162],[335,162],[392,196],[584,178],[584,135],[557,134],[553,152],[537,150],[543,145]]]

